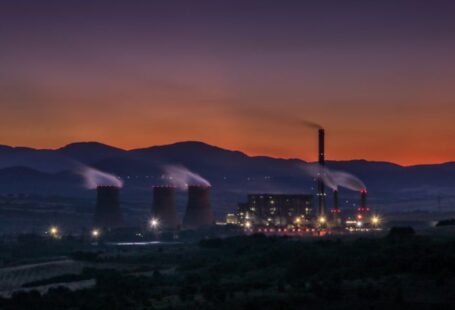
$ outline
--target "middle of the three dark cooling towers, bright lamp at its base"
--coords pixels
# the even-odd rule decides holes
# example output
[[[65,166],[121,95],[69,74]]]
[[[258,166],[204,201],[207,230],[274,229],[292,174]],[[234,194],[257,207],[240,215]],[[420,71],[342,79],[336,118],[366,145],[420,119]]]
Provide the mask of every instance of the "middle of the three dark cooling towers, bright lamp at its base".
[[[159,221],[163,229],[175,230],[179,227],[179,219],[175,208],[175,187],[153,187],[152,216]]]

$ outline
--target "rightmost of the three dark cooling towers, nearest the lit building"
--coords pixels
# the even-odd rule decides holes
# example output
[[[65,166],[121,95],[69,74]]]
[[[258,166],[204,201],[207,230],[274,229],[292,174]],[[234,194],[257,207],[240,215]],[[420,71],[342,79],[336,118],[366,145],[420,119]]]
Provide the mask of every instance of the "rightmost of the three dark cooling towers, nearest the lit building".
[[[210,186],[188,186],[188,205],[186,208],[183,226],[189,229],[198,229],[213,225],[214,217],[210,206]]]

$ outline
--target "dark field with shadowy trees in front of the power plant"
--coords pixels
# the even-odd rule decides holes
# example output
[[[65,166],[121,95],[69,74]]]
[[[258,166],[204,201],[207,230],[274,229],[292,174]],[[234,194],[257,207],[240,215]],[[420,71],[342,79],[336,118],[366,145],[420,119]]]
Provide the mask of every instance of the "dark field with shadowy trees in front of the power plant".
[[[254,235],[96,253],[68,248],[77,272],[24,283],[28,291],[0,299],[0,309],[453,309],[455,302],[451,237]],[[69,283],[92,284],[73,291]],[[38,293],[50,284],[59,285]]]

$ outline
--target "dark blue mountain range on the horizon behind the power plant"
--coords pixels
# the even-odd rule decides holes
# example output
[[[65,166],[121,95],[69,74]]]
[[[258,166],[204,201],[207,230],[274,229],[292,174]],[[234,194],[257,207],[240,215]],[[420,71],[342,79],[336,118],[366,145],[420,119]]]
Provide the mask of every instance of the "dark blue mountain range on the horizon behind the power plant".
[[[163,183],[163,168],[184,166],[207,179],[215,202],[233,205],[248,192],[314,193],[314,179],[299,159],[248,156],[202,142],[188,141],[123,150],[97,142],[59,149],[0,146],[0,193],[91,197],[75,171],[88,165],[124,180],[124,197],[148,199]],[[404,167],[366,160],[328,161],[331,169],[352,173],[367,185],[370,200],[383,207],[432,208],[452,205],[455,163]],[[343,191],[355,199],[357,193]],[[221,198],[220,198],[221,197]],[[231,198],[229,198],[231,197]],[[398,208],[397,207],[397,208]]]

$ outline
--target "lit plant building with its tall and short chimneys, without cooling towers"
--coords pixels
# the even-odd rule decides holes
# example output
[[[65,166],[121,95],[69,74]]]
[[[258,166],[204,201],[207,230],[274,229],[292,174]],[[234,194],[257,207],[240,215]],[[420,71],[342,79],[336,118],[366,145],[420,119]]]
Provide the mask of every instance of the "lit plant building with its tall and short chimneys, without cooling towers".
[[[327,212],[325,168],[325,130],[318,128],[317,208],[313,212],[313,195],[309,194],[249,194],[235,214],[226,216],[226,223],[258,232],[370,231],[380,229],[380,218],[367,206],[367,190],[360,190],[360,203],[352,217],[343,216],[339,192],[332,184],[333,206]]]

